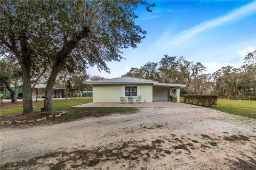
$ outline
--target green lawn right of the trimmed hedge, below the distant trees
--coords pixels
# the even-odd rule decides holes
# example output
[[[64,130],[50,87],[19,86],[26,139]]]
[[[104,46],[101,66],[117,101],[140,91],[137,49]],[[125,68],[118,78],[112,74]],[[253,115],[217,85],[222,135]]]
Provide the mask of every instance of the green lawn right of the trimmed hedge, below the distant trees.
[[[184,102],[183,98],[180,99],[180,102]],[[214,105],[213,108],[221,112],[256,119],[256,101],[218,99],[217,105]]]

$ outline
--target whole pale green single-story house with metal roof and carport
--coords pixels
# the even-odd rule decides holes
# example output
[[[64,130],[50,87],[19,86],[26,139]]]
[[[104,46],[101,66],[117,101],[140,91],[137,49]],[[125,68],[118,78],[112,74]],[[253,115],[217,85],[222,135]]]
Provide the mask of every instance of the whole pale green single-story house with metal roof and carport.
[[[142,102],[170,101],[171,96],[180,101],[180,88],[185,84],[158,83],[153,80],[120,77],[89,82],[92,84],[93,102],[119,102],[120,97],[137,98]],[[134,99],[135,101],[135,99]]]

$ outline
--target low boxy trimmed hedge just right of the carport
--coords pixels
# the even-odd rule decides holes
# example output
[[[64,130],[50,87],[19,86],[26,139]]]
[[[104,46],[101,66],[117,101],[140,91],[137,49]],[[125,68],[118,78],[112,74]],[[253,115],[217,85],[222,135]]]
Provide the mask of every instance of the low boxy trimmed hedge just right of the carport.
[[[184,103],[212,107],[212,105],[217,104],[217,99],[217,95],[185,95]]]

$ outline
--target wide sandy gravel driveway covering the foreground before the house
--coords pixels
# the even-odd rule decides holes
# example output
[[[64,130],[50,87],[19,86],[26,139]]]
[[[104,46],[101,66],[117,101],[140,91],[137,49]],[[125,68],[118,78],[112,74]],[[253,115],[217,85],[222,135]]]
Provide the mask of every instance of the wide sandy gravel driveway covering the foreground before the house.
[[[231,135],[239,138],[230,141]],[[73,169],[75,165],[77,169],[230,169],[243,164],[253,167],[255,141],[256,121],[250,118],[204,107],[140,108],[135,114],[2,129],[1,164],[38,157],[36,164],[21,169],[49,169],[60,160],[65,163],[64,169]],[[95,154],[106,149],[113,149],[114,155],[103,151],[100,156]],[[86,159],[95,158],[95,165],[78,159],[78,150],[86,150]],[[69,154],[58,155],[58,151]],[[118,157],[117,152],[122,155]]]

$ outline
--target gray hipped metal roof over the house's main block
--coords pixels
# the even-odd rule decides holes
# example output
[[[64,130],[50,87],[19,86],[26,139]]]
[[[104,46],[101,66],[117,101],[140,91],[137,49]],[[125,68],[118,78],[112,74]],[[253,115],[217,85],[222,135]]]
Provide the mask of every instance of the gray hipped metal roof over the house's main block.
[[[122,84],[122,83],[157,83],[154,80],[146,80],[146,79],[139,79],[139,78],[130,78],[130,77],[120,77],[114,79],[107,79],[107,80],[98,80],[88,82],[87,84]]]

